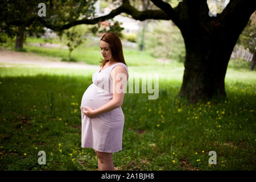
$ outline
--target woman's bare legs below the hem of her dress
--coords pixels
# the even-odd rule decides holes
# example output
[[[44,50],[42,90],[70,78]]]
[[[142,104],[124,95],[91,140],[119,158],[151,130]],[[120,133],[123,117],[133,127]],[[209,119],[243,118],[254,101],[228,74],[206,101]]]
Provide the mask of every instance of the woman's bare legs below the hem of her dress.
[[[114,171],[113,153],[94,151],[98,157],[98,170]]]

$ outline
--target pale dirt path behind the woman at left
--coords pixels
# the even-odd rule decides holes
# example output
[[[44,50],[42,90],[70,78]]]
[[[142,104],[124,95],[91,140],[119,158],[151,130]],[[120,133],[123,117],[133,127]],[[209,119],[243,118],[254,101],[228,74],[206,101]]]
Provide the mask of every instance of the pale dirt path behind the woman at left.
[[[15,52],[0,49],[0,67],[42,67],[97,69],[100,65],[63,62],[57,57],[39,56],[32,52]]]

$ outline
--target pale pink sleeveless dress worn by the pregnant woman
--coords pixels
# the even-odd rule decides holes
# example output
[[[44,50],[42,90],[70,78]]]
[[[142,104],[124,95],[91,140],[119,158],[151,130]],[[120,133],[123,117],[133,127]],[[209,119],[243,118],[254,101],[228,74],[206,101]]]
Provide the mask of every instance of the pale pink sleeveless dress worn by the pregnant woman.
[[[83,148],[93,148],[100,152],[110,153],[122,150],[125,116],[121,106],[107,113],[99,114],[94,118],[88,118],[82,112],[84,106],[97,109],[112,100],[113,81],[110,77],[110,72],[116,65],[123,65],[128,73],[127,66],[123,63],[110,65],[101,72],[100,67],[98,71],[93,73],[93,83],[88,86],[82,96],[80,109],[82,122],[81,147]],[[104,86],[102,86],[102,83]]]

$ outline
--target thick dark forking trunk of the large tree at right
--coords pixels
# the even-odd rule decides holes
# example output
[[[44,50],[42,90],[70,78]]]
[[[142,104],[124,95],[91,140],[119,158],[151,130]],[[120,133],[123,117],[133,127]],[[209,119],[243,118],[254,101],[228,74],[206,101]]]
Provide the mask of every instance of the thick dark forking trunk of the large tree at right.
[[[176,22],[186,50],[183,83],[178,96],[187,97],[190,103],[213,97],[218,101],[226,100],[226,69],[237,39],[250,18],[246,4],[233,1],[221,15],[210,17],[206,1],[198,1],[200,5],[184,2],[187,6],[181,6],[183,16]],[[242,15],[228,12],[233,11],[231,7],[235,5],[237,9],[243,8]]]

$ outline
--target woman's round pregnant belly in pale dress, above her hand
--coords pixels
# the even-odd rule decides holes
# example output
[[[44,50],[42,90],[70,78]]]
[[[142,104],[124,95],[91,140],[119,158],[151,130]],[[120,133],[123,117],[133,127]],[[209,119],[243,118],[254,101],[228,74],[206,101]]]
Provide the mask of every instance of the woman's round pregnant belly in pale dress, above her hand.
[[[98,88],[98,86],[91,84],[82,96],[80,109],[84,106],[92,109],[98,109],[98,107],[101,107],[111,101],[112,98],[112,94],[105,93],[104,90]]]

